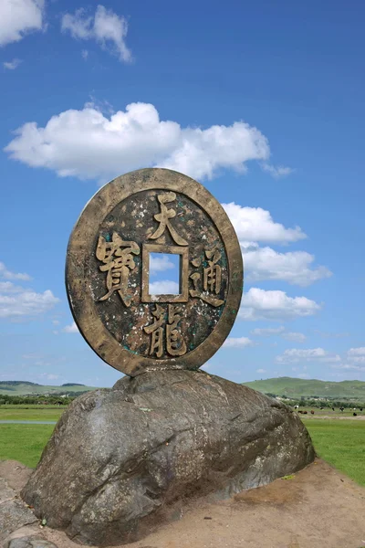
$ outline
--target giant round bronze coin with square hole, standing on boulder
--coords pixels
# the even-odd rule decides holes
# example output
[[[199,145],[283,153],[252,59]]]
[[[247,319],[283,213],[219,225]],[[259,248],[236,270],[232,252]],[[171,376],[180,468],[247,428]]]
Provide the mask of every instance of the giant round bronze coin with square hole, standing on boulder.
[[[179,258],[176,294],[150,294],[156,253]],[[130,376],[197,369],[234,324],[242,254],[222,205],[202,184],[141,169],[86,205],[69,239],[66,283],[79,331],[107,364]]]

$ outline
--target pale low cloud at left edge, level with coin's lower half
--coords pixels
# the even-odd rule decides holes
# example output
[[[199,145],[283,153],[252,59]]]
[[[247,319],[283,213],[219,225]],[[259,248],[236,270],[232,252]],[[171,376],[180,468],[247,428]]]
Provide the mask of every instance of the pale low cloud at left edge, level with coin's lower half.
[[[58,301],[51,290],[36,293],[7,282],[6,287],[3,284],[0,288],[0,318],[31,319],[50,311]]]

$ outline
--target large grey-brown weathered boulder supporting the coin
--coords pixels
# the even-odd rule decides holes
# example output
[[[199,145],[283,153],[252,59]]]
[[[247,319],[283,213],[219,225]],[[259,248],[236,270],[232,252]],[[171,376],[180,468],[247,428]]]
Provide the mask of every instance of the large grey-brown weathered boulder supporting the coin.
[[[145,373],[75,400],[22,496],[73,540],[127,543],[189,500],[266,484],[313,458],[287,406],[202,372]]]

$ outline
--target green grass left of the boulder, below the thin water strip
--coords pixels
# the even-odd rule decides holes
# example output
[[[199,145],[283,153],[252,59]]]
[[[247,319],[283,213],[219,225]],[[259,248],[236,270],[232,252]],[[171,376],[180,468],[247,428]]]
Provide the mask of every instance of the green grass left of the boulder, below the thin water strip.
[[[0,460],[14,459],[35,468],[53,425],[0,425]]]

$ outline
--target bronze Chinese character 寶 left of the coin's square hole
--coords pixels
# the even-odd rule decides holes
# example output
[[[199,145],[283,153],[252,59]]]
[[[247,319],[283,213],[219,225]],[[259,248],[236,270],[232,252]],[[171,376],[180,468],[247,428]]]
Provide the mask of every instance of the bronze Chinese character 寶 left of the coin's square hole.
[[[114,291],[118,291],[125,306],[130,306],[131,294],[128,290],[130,271],[135,269],[133,255],[140,254],[140,247],[136,242],[124,241],[116,232],[113,232],[111,242],[100,236],[96,257],[104,263],[99,266],[101,272],[108,272],[106,285],[108,292],[99,300],[109,299]]]

